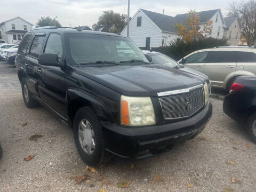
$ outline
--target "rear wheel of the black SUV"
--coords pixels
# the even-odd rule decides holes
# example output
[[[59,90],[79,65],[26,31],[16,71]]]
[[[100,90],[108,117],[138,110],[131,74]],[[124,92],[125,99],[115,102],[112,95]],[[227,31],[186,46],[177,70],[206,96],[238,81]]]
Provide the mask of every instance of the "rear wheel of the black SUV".
[[[28,85],[26,83],[25,78],[23,78],[21,81],[21,90],[22,90],[23,100],[25,102],[25,105],[28,108],[34,108],[39,105],[39,103],[32,97],[32,94],[28,90]]]

